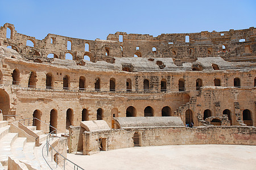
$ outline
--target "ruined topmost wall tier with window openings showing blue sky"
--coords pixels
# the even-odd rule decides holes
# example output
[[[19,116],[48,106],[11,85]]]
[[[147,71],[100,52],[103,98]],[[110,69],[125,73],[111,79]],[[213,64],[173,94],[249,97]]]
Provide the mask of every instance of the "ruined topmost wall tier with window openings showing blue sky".
[[[10,39],[6,39],[7,28],[11,32]],[[43,40],[38,40],[17,33],[13,24],[6,23],[0,28],[0,45],[13,46],[27,59],[38,58],[40,61],[49,61],[47,56],[51,53],[60,59],[65,59],[65,54],[70,53],[76,61],[89,56],[93,62],[111,63],[114,62],[113,57],[134,57],[134,54],[147,58],[172,57],[176,58],[176,63],[213,56],[227,61],[255,61],[255,34],[256,29],[250,27],[222,32],[168,33],[157,37],[117,32],[110,34],[107,40],[83,40],[49,33]],[[32,41],[34,46],[26,46],[27,40]],[[71,42],[71,49],[68,49],[68,41]],[[89,46],[86,50],[85,44]]]

